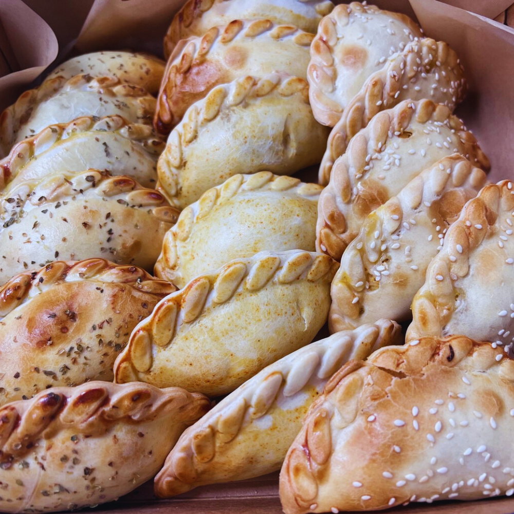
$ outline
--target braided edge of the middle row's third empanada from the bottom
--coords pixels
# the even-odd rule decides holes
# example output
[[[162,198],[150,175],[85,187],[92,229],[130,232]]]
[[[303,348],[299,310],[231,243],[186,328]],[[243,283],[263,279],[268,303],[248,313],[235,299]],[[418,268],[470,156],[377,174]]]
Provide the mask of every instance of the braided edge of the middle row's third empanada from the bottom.
[[[165,278],[170,282],[180,275],[180,255],[177,252],[179,244],[187,243],[197,223],[203,223],[215,207],[224,205],[239,194],[248,191],[255,192],[281,192],[287,191],[303,198],[317,200],[322,186],[301,182],[299,178],[284,175],[273,175],[269,171],[261,171],[253,175],[234,175],[221,186],[209,189],[194,204],[186,207],[180,215],[176,225],[164,236],[162,252],[155,265],[157,277]]]

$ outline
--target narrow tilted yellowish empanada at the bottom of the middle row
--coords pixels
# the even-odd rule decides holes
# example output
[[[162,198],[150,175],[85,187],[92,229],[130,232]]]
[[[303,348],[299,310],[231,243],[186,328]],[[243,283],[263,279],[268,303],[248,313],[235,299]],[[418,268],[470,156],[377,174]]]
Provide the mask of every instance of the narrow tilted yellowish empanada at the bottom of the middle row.
[[[351,359],[399,342],[389,320],[338,332],[270,364],[182,434],[155,479],[167,498],[193,487],[280,469],[311,402]]]

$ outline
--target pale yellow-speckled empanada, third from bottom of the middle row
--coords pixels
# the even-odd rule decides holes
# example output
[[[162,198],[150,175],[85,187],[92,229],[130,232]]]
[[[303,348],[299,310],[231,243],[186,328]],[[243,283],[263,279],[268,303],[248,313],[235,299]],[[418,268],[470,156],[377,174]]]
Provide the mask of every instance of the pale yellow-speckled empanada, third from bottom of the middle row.
[[[321,190],[269,171],[229,178],[180,213],[164,236],[156,276],[183,287],[260,251],[315,251]]]

